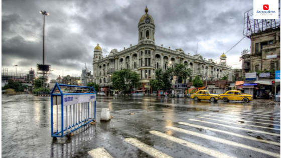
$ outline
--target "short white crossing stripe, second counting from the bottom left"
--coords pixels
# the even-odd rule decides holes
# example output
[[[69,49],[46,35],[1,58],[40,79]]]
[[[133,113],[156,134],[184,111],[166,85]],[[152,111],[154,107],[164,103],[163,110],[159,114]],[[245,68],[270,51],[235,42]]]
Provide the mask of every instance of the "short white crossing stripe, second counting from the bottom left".
[[[169,156],[166,153],[163,153],[141,141],[138,141],[135,138],[125,138],[125,141],[130,143],[131,145],[137,147],[138,149],[141,149],[142,151],[152,155],[153,157],[156,158],[173,158],[172,156]]]

